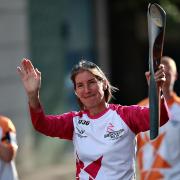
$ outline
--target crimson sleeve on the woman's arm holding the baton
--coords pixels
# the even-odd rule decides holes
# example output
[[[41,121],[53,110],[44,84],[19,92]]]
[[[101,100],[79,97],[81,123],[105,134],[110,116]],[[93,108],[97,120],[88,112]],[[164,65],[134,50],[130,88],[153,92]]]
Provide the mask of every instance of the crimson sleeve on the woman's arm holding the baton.
[[[135,133],[149,130],[149,108],[144,106],[120,106],[118,109],[119,115],[122,117],[128,127]],[[169,112],[167,103],[164,98],[161,99],[161,119],[162,126],[169,120]]]

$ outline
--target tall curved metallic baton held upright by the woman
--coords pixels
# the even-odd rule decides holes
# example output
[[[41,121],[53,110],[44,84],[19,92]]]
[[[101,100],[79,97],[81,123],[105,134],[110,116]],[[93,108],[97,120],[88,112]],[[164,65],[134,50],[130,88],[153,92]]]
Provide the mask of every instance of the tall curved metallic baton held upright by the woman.
[[[159,134],[160,122],[160,88],[154,78],[163,53],[166,13],[163,8],[152,3],[148,5],[148,36],[149,36],[149,108],[150,108],[150,139]]]

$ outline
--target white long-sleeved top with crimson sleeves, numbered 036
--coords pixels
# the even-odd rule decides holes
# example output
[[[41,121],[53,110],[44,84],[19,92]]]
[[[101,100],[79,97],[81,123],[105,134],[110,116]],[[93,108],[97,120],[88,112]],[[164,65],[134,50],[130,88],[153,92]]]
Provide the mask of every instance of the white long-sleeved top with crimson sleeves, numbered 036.
[[[161,124],[168,121],[164,99]],[[35,129],[47,136],[72,140],[77,180],[129,180],[135,178],[135,135],[149,129],[149,109],[109,104],[104,112],[86,111],[45,115],[32,109]]]

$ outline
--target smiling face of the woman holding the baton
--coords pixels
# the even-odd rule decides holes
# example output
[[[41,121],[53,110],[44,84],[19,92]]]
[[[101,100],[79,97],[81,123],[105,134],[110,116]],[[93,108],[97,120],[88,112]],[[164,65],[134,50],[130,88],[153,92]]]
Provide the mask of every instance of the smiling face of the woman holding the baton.
[[[86,109],[105,103],[105,82],[98,80],[91,72],[82,71],[75,77],[75,92]]]

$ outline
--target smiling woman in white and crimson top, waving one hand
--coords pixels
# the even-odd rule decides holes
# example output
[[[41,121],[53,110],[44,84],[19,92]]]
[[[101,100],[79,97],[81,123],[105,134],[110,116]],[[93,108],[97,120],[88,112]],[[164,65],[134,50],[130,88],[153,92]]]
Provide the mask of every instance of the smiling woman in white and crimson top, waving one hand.
[[[149,109],[109,104],[112,91],[101,69],[92,62],[80,61],[71,80],[81,110],[61,115],[45,115],[39,99],[41,73],[28,59],[18,72],[29,100],[30,114],[37,131],[52,137],[72,140],[76,154],[76,179],[133,179],[135,136],[149,129]],[[164,66],[156,72],[156,82],[165,81]],[[161,125],[168,121],[161,98]]]

